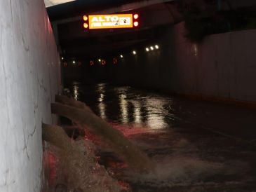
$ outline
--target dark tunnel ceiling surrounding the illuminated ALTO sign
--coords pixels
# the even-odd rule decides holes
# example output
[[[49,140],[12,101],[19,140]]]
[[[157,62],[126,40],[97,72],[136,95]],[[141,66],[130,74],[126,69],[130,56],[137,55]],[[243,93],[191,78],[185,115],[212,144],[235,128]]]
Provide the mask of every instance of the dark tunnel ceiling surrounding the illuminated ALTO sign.
[[[50,6],[47,11],[61,55],[83,60],[154,41],[166,25],[182,21],[181,4],[198,4],[204,16],[217,10],[217,0],[76,0]],[[252,5],[255,0],[226,0],[222,8]],[[82,16],[92,13],[139,13],[140,27],[88,31],[83,29]]]

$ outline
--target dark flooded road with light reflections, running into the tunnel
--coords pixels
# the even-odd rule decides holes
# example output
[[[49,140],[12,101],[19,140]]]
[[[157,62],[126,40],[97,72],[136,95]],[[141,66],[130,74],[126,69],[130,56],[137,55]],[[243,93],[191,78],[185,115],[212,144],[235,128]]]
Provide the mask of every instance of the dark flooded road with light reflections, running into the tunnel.
[[[154,161],[154,174],[136,175],[112,153],[100,154],[132,191],[256,191],[255,110],[106,83],[68,88]]]

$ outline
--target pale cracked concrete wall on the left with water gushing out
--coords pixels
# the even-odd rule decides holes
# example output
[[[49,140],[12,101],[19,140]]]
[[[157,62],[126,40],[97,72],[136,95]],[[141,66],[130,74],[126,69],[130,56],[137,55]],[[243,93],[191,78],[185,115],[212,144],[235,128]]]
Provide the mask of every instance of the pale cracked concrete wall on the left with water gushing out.
[[[41,191],[41,123],[60,61],[43,1],[0,1],[0,191]]]

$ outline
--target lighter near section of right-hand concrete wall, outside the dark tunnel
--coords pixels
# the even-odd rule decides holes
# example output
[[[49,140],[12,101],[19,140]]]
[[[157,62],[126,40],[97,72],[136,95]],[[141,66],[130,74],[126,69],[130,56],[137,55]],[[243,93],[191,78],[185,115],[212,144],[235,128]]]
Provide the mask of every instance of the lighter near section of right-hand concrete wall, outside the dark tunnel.
[[[181,23],[169,39],[175,47],[171,90],[256,102],[255,29],[210,35],[198,44],[185,39],[184,33]]]

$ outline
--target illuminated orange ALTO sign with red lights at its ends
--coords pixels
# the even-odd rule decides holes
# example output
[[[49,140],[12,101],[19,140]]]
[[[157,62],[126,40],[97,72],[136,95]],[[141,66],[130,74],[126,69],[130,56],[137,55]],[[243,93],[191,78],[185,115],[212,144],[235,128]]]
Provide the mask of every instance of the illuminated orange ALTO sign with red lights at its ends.
[[[119,29],[133,28],[139,25],[139,15],[112,14],[112,15],[83,15],[85,29]]]

